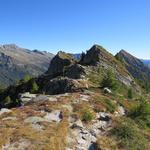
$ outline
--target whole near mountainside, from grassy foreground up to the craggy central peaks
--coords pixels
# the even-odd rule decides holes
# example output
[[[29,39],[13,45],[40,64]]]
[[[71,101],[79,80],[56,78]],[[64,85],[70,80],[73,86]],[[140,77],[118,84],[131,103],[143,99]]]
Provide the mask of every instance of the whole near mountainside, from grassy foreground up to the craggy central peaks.
[[[150,94],[119,58],[99,45],[80,60],[60,51],[44,74],[1,91],[0,148],[148,150]]]

